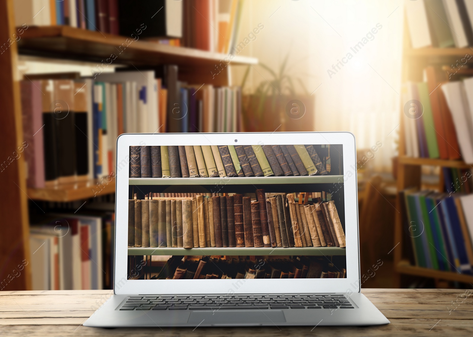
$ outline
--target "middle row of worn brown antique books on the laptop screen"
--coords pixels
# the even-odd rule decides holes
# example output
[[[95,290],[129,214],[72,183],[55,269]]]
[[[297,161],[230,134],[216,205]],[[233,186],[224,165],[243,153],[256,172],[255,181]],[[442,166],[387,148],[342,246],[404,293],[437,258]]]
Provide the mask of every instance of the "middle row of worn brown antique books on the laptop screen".
[[[233,194],[185,199],[146,195],[128,203],[129,247],[345,247],[335,202],[295,203],[295,194],[256,200]]]

